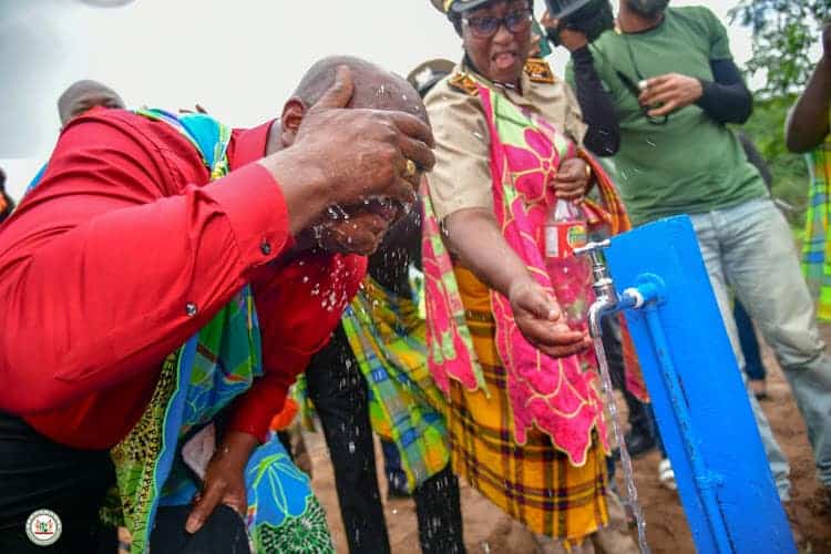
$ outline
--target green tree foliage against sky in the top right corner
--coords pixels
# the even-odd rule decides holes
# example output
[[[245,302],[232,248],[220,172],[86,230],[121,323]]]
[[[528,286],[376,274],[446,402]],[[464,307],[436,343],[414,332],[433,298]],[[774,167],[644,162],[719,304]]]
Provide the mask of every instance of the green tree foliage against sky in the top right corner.
[[[813,70],[810,52],[831,17],[831,0],[741,0],[729,12],[730,22],[753,34],[748,76],[763,72],[760,96],[799,93]]]

